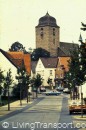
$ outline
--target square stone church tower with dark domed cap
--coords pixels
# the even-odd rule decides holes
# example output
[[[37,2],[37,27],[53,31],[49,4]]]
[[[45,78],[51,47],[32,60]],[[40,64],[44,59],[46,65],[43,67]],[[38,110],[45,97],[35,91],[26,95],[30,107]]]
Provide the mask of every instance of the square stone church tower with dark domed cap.
[[[56,19],[47,12],[39,19],[36,30],[36,48],[43,48],[50,52],[51,57],[57,56],[59,47],[59,26]]]

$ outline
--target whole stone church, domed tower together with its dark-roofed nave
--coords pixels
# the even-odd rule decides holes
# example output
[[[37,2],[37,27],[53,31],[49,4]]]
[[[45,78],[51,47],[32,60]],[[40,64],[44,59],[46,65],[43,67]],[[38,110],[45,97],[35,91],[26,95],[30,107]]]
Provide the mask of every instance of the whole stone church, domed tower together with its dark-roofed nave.
[[[51,57],[70,56],[78,44],[60,42],[60,27],[56,19],[47,12],[39,19],[36,30],[36,48],[43,48],[50,52]]]

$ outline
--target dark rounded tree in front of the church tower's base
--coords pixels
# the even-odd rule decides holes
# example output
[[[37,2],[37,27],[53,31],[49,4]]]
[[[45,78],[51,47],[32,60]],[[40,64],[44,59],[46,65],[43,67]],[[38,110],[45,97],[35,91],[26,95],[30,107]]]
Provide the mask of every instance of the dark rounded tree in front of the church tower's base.
[[[42,48],[37,48],[33,51],[31,59],[37,61],[40,57],[50,57],[50,53]]]

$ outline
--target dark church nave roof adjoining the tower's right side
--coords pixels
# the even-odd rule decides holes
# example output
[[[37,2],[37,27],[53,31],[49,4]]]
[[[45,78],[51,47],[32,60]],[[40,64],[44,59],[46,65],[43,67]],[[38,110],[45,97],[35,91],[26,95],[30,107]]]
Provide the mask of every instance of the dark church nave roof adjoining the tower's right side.
[[[73,50],[78,50],[78,44],[60,42],[58,47],[58,56],[71,56]]]

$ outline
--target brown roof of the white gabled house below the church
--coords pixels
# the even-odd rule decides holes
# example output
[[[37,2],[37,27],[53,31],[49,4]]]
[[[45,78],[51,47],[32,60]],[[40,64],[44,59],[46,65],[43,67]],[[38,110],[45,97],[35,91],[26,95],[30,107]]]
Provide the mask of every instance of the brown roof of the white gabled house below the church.
[[[58,58],[40,58],[45,68],[56,68]]]

